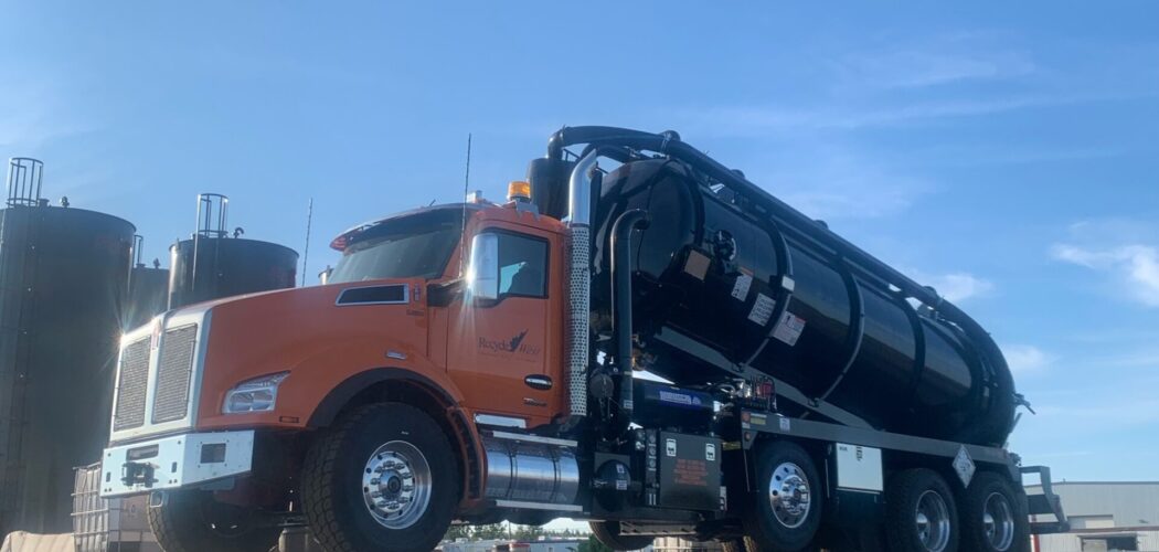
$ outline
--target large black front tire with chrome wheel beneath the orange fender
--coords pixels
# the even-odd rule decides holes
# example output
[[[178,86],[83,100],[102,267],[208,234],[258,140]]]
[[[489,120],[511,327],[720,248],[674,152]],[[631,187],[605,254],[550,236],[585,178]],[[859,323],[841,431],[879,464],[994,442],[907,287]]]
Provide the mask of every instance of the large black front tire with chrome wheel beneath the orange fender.
[[[398,402],[347,415],[311,446],[302,469],[306,520],[329,552],[432,550],[459,487],[443,429]]]

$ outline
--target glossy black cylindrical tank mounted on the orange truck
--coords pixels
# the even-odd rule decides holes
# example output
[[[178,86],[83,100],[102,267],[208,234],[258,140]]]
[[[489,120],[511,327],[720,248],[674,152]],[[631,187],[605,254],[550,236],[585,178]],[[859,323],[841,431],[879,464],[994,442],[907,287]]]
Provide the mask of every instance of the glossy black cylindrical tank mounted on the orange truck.
[[[611,320],[612,223],[651,215],[633,241],[633,328],[642,368],[678,385],[752,370],[778,383],[782,409],[847,424],[1001,444],[1014,385],[993,342],[979,343],[884,279],[712,186],[673,159],[607,174],[593,219],[596,331]],[[823,224],[823,223],[809,223]],[[989,340],[989,337],[986,337]]]

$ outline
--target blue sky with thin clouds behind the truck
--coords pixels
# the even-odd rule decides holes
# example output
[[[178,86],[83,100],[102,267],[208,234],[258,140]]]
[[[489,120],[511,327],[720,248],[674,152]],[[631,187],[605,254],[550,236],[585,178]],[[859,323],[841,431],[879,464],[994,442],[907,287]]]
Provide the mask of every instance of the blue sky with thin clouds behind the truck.
[[[495,197],[563,124],[676,129],[975,314],[1027,462],[1159,480],[1159,5],[304,3],[0,0],[0,155],[162,262],[199,191],[299,252],[313,197],[315,275],[468,132]]]

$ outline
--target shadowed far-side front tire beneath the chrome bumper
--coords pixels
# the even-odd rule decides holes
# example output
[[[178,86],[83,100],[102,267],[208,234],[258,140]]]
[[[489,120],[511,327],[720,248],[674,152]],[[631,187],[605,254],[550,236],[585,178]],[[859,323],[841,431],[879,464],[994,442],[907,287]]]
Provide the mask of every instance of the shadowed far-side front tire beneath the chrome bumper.
[[[225,504],[204,491],[167,492],[148,507],[148,524],[166,552],[253,552],[278,544],[282,530],[256,508]]]

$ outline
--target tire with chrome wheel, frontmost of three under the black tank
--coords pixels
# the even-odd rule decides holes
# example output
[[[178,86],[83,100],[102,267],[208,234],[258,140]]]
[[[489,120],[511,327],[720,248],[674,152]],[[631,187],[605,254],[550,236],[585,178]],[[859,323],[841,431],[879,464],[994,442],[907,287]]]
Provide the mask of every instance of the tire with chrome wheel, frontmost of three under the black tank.
[[[749,552],[806,550],[821,526],[824,492],[812,458],[801,446],[772,441],[758,449],[757,493],[742,510]]]

